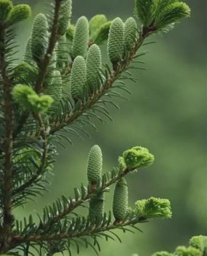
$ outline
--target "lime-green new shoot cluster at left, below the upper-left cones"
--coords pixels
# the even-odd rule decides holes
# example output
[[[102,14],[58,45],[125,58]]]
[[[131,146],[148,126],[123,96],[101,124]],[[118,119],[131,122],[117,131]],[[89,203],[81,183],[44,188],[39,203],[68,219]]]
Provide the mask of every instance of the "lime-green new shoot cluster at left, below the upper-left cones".
[[[14,86],[12,94],[17,103],[35,113],[46,112],[53,102],[49,95],[39,96],[30,86],[24,84]]]

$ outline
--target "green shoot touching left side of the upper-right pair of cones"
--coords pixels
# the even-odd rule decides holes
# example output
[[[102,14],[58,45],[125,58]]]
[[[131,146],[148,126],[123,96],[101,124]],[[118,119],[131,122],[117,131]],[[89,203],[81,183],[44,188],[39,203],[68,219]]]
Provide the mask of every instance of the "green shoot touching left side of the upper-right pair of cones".
[[[91,35],[90,41],[96,43],[97,45],[105,43],[108,39],[108,33],[110,30],[111,21],[107,21],[105,24],[101,25],[99,29]]]

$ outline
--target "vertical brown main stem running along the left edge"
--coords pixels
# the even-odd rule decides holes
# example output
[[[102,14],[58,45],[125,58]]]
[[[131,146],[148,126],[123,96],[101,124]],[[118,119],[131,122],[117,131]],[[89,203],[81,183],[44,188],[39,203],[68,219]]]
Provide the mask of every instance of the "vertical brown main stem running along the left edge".
[[[13,107],[11,95],[11,81],[7,72],[6,63],[6,45],[5,45],[5,28],[0,25],[0,72],[2,75],[3,94],[4,94],[4,123],[5,123],[5,137],[3,144],[4,152],[4,176],[3,176],[3,244],[1,246],[1,253],[5,253],[11,240],[11,224],[13,223],[12,215],[12,151],[13,151]]]

